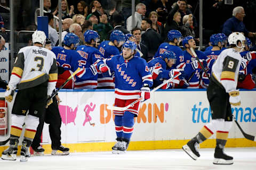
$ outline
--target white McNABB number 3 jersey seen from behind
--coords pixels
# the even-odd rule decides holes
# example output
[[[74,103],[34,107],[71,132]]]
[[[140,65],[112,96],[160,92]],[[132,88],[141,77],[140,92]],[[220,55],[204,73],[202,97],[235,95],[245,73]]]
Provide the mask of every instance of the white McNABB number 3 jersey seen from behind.
[[[9,85],[14,89],[27,89],[48,82],[47,95],[51,95],[58,79],[56,56],[51,50],[38,46],[23,47],[15,60]]]

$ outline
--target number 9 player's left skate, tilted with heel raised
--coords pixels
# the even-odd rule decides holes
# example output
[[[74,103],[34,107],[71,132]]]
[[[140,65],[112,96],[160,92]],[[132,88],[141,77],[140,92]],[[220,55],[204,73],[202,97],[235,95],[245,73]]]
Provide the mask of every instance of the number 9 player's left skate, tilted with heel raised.
[[[187,145],[184,145],[182,147],[182,149],[194,160],[200,157],[198,148],[199,148],[199,143],[194,138],[188,141]]]

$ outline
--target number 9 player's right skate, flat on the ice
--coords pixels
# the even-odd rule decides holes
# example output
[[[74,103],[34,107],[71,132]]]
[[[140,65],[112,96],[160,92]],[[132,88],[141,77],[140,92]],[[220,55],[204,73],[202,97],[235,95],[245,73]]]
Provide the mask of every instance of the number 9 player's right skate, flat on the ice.
[[[214,153],[213,164],[218,165],[231,165],[233,164],[233,157],[226,155],[223,149],[216,147]]]

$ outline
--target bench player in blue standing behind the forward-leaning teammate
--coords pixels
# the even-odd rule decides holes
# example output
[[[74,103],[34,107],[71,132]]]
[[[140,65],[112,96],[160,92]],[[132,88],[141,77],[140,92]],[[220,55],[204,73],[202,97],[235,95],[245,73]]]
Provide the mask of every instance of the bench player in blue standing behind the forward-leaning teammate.
[[[169,43],[162,43],[154,56],[154,58],[161,56],[166,50],[173,52],[177,56],[177,61],[174,65],[177,69],[183,69],[185,67],[183,52],[179,47],[180,38],[182,37],[180,31],[170,30],[167,38]]]

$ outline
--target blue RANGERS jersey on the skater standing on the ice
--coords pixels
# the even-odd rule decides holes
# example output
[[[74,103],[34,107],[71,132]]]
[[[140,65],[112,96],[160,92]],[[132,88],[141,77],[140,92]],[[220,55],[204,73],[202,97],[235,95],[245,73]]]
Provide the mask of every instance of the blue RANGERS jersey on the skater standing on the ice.
[[[138,99],[143,84],[153,84],[148,64],[143,58],[134,56],[124,60],[122,55],[105,59],[104,62],[115,73],[115,97],[118,99]]]

